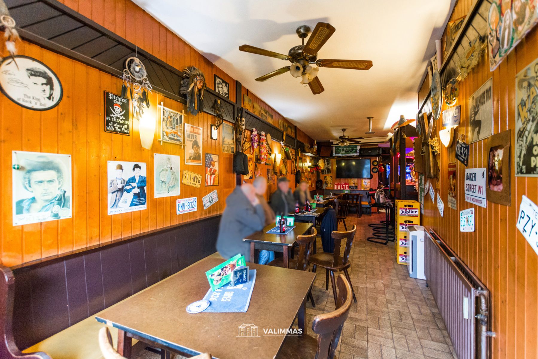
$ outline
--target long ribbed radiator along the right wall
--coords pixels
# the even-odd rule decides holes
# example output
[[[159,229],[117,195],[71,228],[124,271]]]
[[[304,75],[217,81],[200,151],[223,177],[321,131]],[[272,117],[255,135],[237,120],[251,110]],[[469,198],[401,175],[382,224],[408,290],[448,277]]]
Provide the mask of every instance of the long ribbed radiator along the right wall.
[[[435,231],[424,234],[427,285],[458,358],[490,358],[490,291]]]

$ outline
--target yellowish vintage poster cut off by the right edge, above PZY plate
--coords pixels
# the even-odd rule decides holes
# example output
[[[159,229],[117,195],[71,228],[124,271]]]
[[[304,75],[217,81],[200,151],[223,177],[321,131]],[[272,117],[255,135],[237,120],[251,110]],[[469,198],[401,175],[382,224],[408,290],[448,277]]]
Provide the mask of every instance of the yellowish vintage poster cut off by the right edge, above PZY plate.
[[[538,177],[538,59],[515,76],[515,175]]]

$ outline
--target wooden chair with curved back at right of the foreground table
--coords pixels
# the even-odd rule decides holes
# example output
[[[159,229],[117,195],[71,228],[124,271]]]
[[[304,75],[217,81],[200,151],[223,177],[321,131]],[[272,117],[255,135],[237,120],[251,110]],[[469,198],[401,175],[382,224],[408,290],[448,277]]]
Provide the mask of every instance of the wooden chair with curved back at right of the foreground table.
[[[351,308],[352,287],[342,274],[338,276],[338,300],[336,309],[330,313],[316,315],[312,330],[317,337],[309,335],[286,336],[275,359],[333,359],[344,322]]]

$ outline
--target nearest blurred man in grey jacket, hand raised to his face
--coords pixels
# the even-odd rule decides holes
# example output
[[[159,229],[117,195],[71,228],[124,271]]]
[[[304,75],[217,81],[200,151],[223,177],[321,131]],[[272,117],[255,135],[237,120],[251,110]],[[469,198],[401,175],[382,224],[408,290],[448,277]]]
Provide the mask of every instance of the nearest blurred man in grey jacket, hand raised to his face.
[[[251,184],[236,187],[226,198],[226,208],[218,228],[217,251],[229,259],[237,254],[250,258],[250,244],[243,242],[246,236],[262,230],[265,226],[264,208]]]

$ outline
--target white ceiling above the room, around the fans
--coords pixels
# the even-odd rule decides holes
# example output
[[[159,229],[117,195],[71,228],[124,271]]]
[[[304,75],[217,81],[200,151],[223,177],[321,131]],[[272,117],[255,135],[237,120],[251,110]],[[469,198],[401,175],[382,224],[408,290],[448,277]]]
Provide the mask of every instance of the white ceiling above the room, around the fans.
[[[384,136],[400,115],[414,118],[417,90],[456,0],[133,0],[179,37],[317,140],[364,136],[367,116]],[[328,22],[336,32],[322,59],[372,60],[368,71],[320,68],[325,91],[313,95],[289,73],[255,78],[289,61],[241,52],[249,44],[287,54],[300,25]],[[213,79],[207,79],[213,88]],[[366,136],[364,136],[366,137]]]

